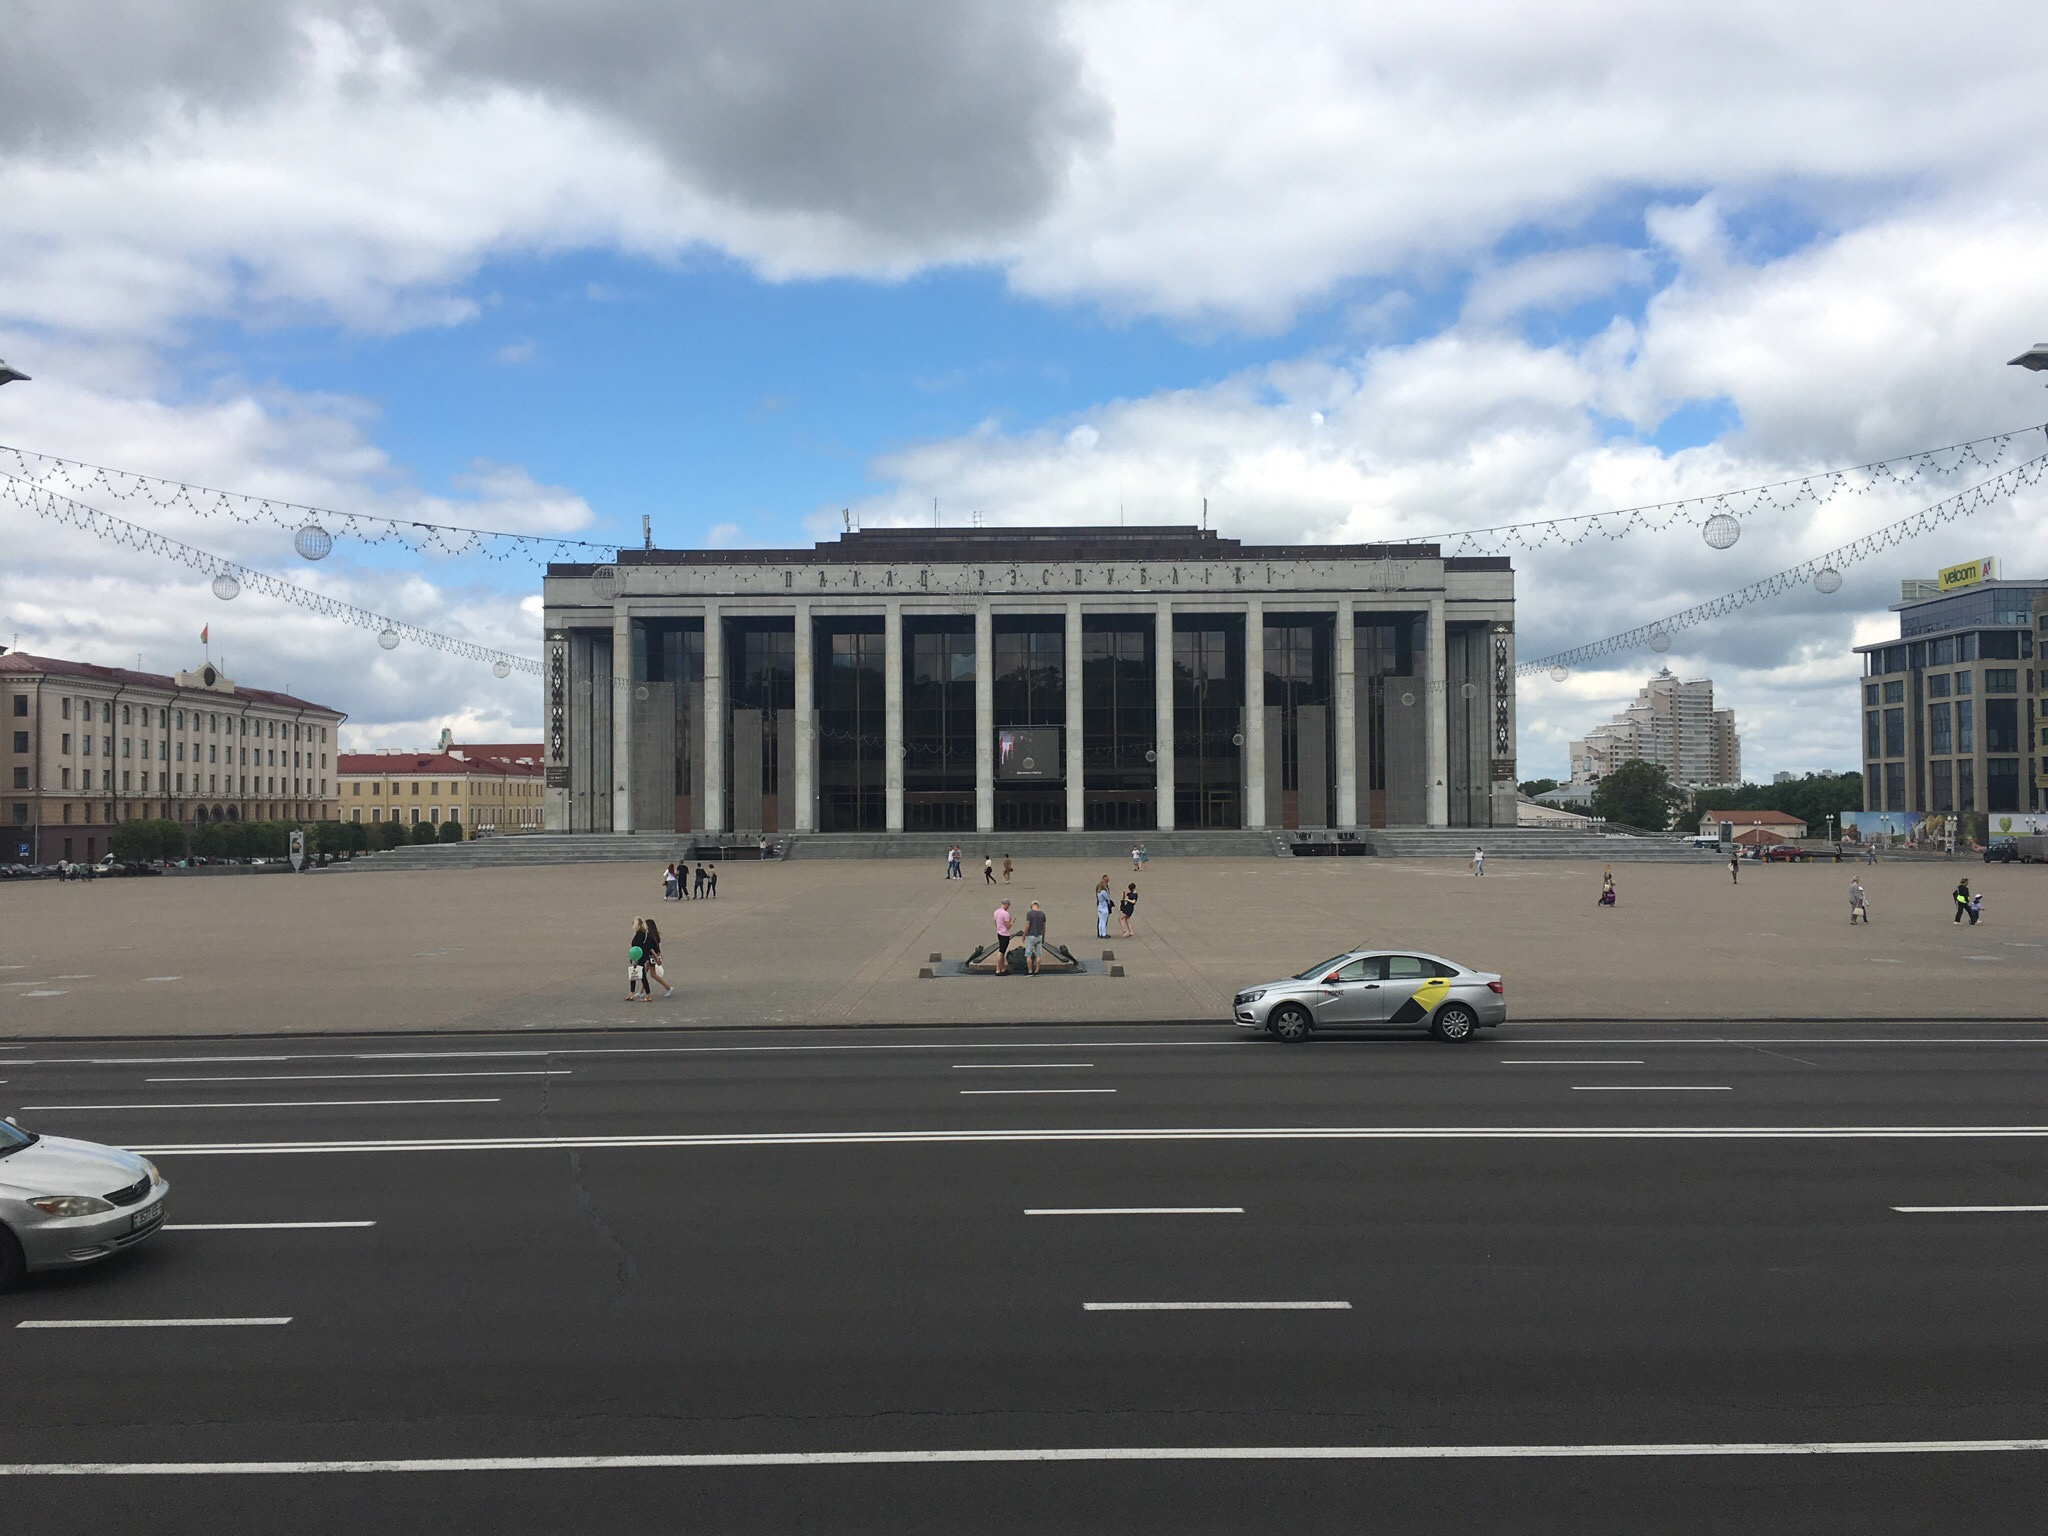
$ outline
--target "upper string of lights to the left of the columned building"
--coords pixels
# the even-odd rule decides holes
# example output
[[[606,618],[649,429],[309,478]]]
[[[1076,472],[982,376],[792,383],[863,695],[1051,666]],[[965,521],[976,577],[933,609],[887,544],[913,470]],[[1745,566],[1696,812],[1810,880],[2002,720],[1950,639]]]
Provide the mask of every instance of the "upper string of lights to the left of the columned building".
[[[55,487],[72,496],[104,492],[119,502],[145,502],[160,510],[182,508],[195,516],[225,516],[244,526],[272,524],[293,530],[293,547],[305,559],[324,559],[334,549],[336,535],[356,539],[367,545],[403,545],[422,555],[483,555],[506,561],[524,557],[535,563],[549,559],[563,561],[612,561],[618,545],[592,543],[588,539],[557,539],[553,535],[504,532],[498,528],[465,528],[451,522],[420,522],[408,518],[379,518],[369,512],[338,512],[328,506],[307,506],[272,496],[248,496],[244,492],[223,492],[213,485],[193,485],[182,479],[141,475],[131,469],[109,469],[78,459],[59,459],[31,449],[12,449],[0,442],[0,473],[12,473],[45,489]]]

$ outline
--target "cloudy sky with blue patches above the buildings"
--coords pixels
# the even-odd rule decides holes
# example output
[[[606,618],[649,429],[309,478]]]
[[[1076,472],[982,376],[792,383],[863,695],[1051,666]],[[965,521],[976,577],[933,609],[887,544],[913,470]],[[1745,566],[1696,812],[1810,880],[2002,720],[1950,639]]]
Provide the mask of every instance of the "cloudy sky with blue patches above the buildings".
[[[2048,420],[2040,4],[10,0],[0,444],[668,545],[1192,522],[1417,537]],[[2007,463],[2040,453],[2015,440]],[[1978,471],[1982,473],[1982,471]],[[1518,555],[1522,653],[1970,483]],[[88,496],[539,653],[539,571]],[[1524,776],[1659,662],[1749,776],[1855,764],[1903,575],[2048,573],[2025,492],[1524,688]],[[358,743],[537,733],[530,680],[0,500],[0,643],[229,672]]]

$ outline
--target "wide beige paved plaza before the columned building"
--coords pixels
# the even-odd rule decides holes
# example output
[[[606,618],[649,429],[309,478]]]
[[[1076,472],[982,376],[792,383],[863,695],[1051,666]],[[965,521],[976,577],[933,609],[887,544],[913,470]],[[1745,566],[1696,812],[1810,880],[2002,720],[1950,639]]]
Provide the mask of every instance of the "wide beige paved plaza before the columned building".
[[[164,877],[0,887],[0,1034],[268,1034],[633,1024],[1219,1020],[1251,981],[1360,940],[1507,977],[1511,1018],[2048,1018],[2048,870],[1980,862],[1618,866],[1489,860],[1159,860],[1137,938],[1096,938],[1104,862],[1020,866],[1010,887],[936,864],[729,864],[719,901],[662,901],[657,868]],[[1001,850],[997,850],[999,856]],[[1847,883],[1874,924],[1847,922]],[[1978,928],[1950,889],[1985,893]],[[1122,977],[920,979],[989,911],[1042,901],[1079,958]],[[633,918],[664,932],[676,997],[625,1001]],[[1022,926],[1020,926],[1022,928]],[[1116,926],[1112,922],[1112,934]]]

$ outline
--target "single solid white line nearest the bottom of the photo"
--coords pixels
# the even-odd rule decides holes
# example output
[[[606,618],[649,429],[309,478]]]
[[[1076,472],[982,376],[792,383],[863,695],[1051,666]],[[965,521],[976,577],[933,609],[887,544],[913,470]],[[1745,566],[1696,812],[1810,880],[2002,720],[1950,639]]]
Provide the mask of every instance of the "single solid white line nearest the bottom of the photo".
[[[1499,1462],[1694,1456],[1993,1456],[2048,1440],[1700,1440],[1583,1446],[999,1446],[985,1450],[758,1450],[653,1456],[418,1456],[328,1462],[0,1462],[0,1477],[338,1477],[367,1473],[627,1473],[743,1466],[1016,1462]]]

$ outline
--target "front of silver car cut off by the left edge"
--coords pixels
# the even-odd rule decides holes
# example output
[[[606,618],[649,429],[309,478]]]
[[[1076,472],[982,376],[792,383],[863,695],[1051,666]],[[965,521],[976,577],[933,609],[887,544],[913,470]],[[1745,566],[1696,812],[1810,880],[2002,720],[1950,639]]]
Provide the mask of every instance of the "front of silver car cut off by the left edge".
[[[0,1290],[31,1270],[94,1264],[156,1235],[168,1194],[147,1157],[0,1120]]]

